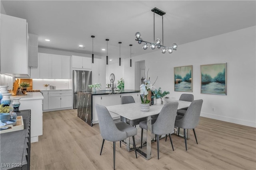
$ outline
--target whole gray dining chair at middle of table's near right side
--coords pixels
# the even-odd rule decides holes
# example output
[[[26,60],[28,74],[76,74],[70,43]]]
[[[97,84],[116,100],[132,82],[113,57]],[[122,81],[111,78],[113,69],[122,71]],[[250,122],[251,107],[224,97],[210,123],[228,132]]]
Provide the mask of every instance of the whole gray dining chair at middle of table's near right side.
[[[157,119],[152,119],[152,133],[156,134],[157,140],[157,158],[159,159],[159,135],[169,134],[170,141],[172,144],[171,134],[174,133],[175,117],[177,113],[178,102],[170,102],[164,104]],[[140,122],[141,129],[141,147],[143,138],[143,129],[148,129],[147,121]],[[172,150],[174,150],[172,145]]]

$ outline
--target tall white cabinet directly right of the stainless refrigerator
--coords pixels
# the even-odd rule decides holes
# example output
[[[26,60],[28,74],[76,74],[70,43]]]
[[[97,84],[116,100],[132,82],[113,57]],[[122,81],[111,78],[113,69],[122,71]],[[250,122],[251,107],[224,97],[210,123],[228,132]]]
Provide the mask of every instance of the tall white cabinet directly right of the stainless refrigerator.
[[[106,87],[106,63],[102,59],[94,59],[92,64],[92,84],[100,83],[102,88]]]

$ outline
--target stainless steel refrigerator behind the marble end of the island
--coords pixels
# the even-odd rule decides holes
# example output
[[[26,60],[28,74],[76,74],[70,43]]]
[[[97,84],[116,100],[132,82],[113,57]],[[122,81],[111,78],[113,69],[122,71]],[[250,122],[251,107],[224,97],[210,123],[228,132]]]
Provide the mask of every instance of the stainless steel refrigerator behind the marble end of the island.
[[[92,71],[73,70],[73,108],[77,109],[77,92],[92,91],[88,85],[92,84]]]

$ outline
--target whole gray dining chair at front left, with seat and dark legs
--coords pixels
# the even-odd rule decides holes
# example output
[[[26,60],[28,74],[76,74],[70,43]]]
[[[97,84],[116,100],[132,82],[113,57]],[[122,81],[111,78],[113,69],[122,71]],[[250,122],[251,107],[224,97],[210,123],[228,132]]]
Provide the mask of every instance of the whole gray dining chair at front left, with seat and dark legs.
[[[113,142],[113,150],[114,150],[114,169],[116,163],[116,141],[122,141],[128,137],[132,137],[133,147],[135,151],[135,155],[137,158],[136,145],[134,136],[137,135],[137,128],[122,121],[114,123],[108,109],[105,106],[96,105],[99,126],[100,126],[100,135],[103,138],[102,147],[100,150],[100,155],[102,153],[104,141]]]

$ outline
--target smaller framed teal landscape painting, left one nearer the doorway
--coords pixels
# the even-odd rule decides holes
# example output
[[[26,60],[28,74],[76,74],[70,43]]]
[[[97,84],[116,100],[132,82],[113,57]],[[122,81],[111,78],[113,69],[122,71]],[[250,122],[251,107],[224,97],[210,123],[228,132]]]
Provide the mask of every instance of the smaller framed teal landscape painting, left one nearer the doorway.
[[[192,65],[174,67],[174,91],[193,92]]]

